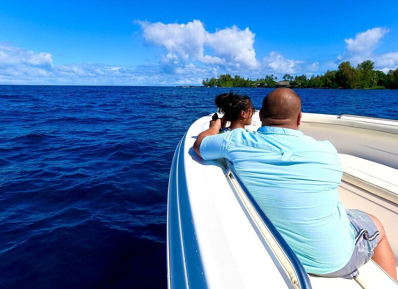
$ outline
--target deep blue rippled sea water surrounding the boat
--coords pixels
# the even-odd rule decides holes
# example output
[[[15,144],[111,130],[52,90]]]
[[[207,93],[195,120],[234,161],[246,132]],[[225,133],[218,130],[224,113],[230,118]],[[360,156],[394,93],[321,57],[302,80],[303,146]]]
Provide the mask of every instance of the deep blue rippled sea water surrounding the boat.
[[[261,107],[268,88],[239,88]],[[0,287],[166,287],[167,183],[228,88],[0,85]],[[398,119],[398,91],[297,90],[303,112]]]

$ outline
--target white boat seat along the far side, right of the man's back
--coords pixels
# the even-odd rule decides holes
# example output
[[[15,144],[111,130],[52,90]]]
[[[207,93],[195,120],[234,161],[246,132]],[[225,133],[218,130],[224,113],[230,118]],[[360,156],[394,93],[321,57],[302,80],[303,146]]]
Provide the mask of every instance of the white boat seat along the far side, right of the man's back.
[[[398,170],[369,160],[339,153],[343,181],[398,204]]]

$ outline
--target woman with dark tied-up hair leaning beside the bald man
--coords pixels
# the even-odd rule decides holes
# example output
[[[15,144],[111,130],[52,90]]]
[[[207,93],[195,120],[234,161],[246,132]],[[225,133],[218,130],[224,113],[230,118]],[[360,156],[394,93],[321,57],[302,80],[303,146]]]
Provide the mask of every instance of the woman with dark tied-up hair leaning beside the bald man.
[[[214,101],[218,107],[218,112],[223,113],[221,118],[221,131],[228,131],[235,128],[245,128],[252,124],[252,117],[256,112],[256,107],[246,95],[234,94],[232,91],[216,96]],[[229,127],[225,127],[227,122],[231,122]]]

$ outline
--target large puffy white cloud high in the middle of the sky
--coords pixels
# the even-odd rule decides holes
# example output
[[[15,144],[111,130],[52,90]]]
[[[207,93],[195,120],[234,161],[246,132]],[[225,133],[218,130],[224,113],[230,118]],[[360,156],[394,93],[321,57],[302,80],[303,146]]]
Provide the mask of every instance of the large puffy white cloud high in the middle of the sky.
[[[182,65],[192,59],[204,64],[219,64],[240,69],[258,68],[259,63],[253,48],[255,34],[248,28],[240,30],[233,26],[209,33],[200,20],[193,20],[187,24],[148,21],[137,23],[142,27],[146,42],[166,50],[163,63],[168,59],[171,65]],[[204,55],[206,48],[211,49],[214,55]],[[170,55],[173,55],[173,58]]]

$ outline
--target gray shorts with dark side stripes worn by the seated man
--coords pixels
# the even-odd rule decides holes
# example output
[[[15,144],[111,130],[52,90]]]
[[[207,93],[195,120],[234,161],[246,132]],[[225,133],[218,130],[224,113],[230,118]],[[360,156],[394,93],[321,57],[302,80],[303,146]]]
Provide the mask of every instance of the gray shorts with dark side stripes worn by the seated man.
[[[355,279],[359,275],[358,268],[373,256],[373,250],[379,242],[379,230],[370,216],[360,210],[346,210],[348,219],[354,227],[355,247],[351,259],[339,271],[319,275],[322,277],[343,277]]]

